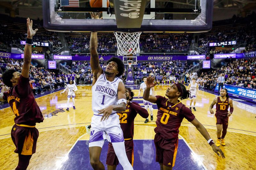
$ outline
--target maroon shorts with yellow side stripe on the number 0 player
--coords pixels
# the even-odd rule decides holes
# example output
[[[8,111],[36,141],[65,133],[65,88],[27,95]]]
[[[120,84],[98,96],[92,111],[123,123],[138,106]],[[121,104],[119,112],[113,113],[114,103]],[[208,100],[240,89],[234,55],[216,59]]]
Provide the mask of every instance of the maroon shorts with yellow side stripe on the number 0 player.
[[[167,140],[156,134],[154,142],[156,146],[156,162],[163,163],[164,166],[173,167],[178,149],[178,137]]]

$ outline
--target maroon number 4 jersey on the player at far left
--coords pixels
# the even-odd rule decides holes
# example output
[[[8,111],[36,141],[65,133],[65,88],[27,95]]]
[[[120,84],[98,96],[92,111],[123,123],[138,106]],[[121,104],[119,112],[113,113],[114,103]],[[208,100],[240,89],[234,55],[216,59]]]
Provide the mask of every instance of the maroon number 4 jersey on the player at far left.
[[[44,117],[29,85],[29,78],[20,75],[18,84],[4,92],[3,99],[7,100],[12,108],[16,124],[35,126],[36,123],[43,122]]]

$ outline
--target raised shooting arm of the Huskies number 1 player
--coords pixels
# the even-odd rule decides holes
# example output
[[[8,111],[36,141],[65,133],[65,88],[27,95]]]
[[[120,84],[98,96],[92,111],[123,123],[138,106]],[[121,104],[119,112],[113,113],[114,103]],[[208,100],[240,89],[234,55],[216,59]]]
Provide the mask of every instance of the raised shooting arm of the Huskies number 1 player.
[[[99,18],[100,13],[91,12],[92,19],[100,19]],[[93,80],[92,85],[95,84],[98,77],[103,73],[102,68],[100,67],[100,61],[99,61],[99,55],[97,52],[98,47],[98,39],[97,39],[97,33],[91,33],[91,39],[90,39],[90,63],[92,68],[92,74],[93,74]]]

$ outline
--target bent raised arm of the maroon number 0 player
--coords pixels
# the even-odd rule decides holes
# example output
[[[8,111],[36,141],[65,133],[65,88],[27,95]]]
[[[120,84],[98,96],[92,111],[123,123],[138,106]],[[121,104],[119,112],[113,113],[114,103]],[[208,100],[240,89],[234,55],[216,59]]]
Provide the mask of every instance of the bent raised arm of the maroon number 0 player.
[[[147,81],[145,82],[147,87],[146,87],[146,89],[144,90],[144,93],[143,93],[143,99],[147,100],[151,103],[156,102],[156,96],[153,96],[153,95],[149,94],[150,93],[150,88],[154,87],[157,84],[157,82],[154,83],[154,80],[155,80],[154,77],[148,76]]]

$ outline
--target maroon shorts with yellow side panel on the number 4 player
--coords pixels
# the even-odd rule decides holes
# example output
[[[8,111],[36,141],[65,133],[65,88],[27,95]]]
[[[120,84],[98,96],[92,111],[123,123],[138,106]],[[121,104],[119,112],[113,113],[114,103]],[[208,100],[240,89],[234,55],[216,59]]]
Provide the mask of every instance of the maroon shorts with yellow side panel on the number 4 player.
[[[36,152],[36,142],[39,132],[35,126],[13,125],[11,137],[15,144],[15,153],[21,155],[32,155]]]

